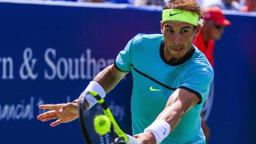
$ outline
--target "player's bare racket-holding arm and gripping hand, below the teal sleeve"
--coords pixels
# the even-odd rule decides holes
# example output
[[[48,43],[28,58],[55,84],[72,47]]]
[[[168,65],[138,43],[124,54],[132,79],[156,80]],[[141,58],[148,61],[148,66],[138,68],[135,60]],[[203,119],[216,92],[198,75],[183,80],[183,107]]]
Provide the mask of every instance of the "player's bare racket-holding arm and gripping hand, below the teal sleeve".
[[[183,115],[194,107],[199,100],[198,95],[195,95],[194,93],[183,88],[178,88],[169,97],[165,109],[158,115],[155,122],[158,121],[161,123],[161,121],[165,121],[166,124],[169,124],[170,131],[166,132],[169,134],[177,127]],[[157,124],[158,123],[155,125]],[[165,130],[163,130],[163,132]],[[151,131],[145,131],[144,133],[137,134],[134,137],[144,144],[156,144],[157,139],[159,139],[159,136],[154,136],[153,132]]]

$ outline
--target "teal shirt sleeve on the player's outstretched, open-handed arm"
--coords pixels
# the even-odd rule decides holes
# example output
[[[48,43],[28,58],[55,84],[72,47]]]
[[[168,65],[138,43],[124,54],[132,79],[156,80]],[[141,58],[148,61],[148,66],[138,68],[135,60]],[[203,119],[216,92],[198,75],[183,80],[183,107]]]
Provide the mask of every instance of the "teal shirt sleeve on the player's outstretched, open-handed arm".
[[[120,53],[116,57],[115,67],[120,71],[123,71],[123,72],[131,71],[130,53],[129,53],[131,43],[132,43],[132,40],[128,42],[124,50],[120,51]]]

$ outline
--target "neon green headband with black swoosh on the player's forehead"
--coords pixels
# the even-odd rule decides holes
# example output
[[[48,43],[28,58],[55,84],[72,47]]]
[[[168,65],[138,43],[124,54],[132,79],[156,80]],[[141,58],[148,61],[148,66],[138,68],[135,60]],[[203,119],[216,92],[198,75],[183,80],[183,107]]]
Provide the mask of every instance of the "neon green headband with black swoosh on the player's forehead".
[[[189,12],[180,9],[165,9],[163,10],[162,23],[165,21],[184,21],[197,26],[201,24],[198,21],[198,15],[194,12]]]

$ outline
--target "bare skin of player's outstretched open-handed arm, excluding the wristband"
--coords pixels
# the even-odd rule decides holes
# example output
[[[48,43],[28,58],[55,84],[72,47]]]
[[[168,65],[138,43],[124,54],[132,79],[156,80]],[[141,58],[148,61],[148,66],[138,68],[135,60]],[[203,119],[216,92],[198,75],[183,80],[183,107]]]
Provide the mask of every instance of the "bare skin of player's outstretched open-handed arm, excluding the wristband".
[[[118,82],[120,82],[125,74],[127,74],[127,72],[117,70],[115,65],[112,64],[97,74],[93,81],[99,83],[104,91],[108,93],[118,84]],[[86,107],[89,107],[88,103],[85,104]],[[78,118],[78,99],[74,100],[73,103],[40,105],[39,108],[51,110],[38,115],[37,119],[40,119],[41,121],[57,119],[50,124],[52,127],[57,126],[60,123],[68,123]]]

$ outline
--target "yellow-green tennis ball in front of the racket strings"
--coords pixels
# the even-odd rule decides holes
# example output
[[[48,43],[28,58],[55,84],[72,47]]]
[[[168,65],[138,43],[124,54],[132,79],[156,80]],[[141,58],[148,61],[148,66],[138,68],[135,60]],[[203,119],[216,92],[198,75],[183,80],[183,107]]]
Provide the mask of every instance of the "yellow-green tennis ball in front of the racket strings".
[[[106,115],[97,115],[94,118],[94,128],[99,135],[104,135],[111,128],[110,119]]]

